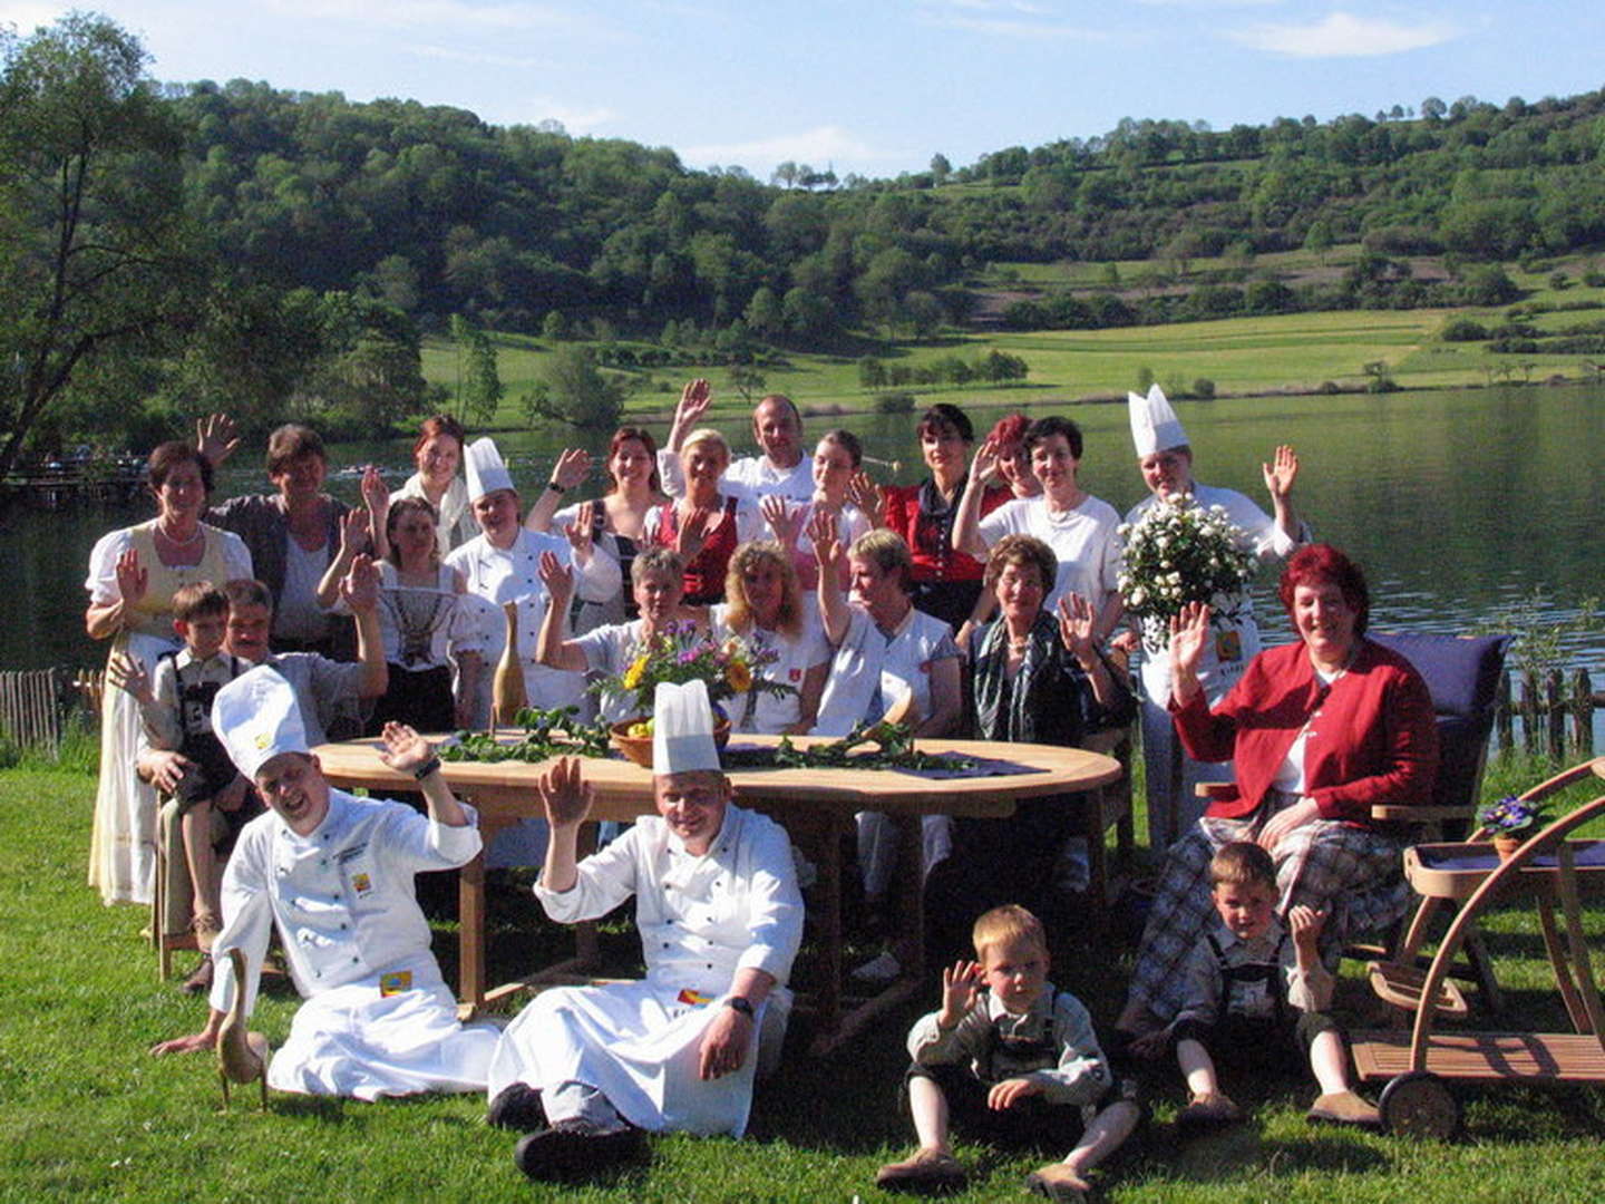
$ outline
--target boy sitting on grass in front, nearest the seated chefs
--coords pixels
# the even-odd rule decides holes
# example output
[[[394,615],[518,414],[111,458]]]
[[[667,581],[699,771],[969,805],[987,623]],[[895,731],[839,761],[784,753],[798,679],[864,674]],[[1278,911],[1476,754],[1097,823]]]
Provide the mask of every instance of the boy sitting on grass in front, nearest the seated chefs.
[[[952,1116],[1000,1145],[1074,1141],[1063,1162],[1032,1172],[1026,1186],[1083,1199],[1088,1172],[1132,1133],[1138,1108],[1111,1100],[1114,1077],[1091,1016],[1048,982],[1048,941],[1035,915],[995,907],[976,920],[974,946],[979,962],[942,971],[942,1008],[908,1034],[913,1066],[904,1087],[920,1148],[881,1167],[875,1183],[920,1194],[963,1190],[966,1173],[947,1138]]]

